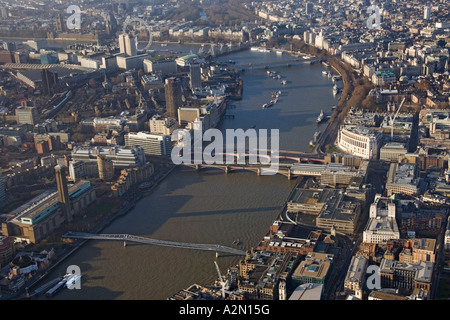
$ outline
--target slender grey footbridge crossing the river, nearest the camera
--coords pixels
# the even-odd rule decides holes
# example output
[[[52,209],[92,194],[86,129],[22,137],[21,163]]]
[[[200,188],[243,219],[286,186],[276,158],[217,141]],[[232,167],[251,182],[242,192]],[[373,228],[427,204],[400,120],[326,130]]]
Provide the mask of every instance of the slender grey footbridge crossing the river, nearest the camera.
[[[127,242],[137,242],[144,244],[152,244],[157,246],[175,247],[183,249],[195,249],[195,250],[207,250],[215,252],[224,252],[234,255],[245,255],[246,252],[239,249],[225,247],[218,244],[197,244],[197,243],[185,243],[176,241],[157,240],[146,237],[139,237],[130,234],[96,234],[96,233],[83,233],[83,232],[67,232],[63,238],[69,239],[86,239],[86,240],[115,240],[123,241],[124,245]]]

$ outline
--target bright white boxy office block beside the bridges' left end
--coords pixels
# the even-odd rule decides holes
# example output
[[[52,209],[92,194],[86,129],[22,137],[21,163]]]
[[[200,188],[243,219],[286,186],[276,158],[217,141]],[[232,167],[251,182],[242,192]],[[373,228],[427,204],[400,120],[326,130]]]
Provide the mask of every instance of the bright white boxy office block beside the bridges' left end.
[[[141,147],[145,154],[170,156],[172,152],[172,138],[170,135],[153,134],[150,132],[130,132],[125,135],[125,146]]]

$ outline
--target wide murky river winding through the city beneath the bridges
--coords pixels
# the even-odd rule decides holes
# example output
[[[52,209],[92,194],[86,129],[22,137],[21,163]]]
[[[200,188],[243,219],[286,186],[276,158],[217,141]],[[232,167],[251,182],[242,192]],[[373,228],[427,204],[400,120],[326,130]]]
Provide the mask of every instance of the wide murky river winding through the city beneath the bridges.
[[[165,47],[164,49],[169,49]],[[186,48],[184,48],[186,50]],[[195,53],[195,52],[194,52]],[[276,63],[291,60],[276,52],[241,51],[222,57],[236,64]],[[301,58],[300,58],[301,59]],[[324,130],[316,118],[321,109],[328,115],[332,105],[332,81],[322,74],[320,64],[280,68],[281,79],[265,70],[242,74],[244,90],[235,108],[227,110],[234,119],[224,119],[221,130],[248,128],[279,129],[280,149],[310,151],[314,132]],[[281,84],[286,80],[286,85]],[[281,90],[278,103],[261,106]],[[277,218],[295,181],[282,175],[257,176],[251,172],[225,174],[208,169],[197,172],[176,168],[155,191],[141,199],[126,216],[115,220],[102,233],[127,233],[160,240],[220,244],[248,250],[256,246]],[[239,239],[240,245],[233,244]],[[220,255],[218,265],[225,273],[242,257]],[[52,299],[148,299],[165,300],[191,284],[211,284],[217,279],[214,252],[89,241],[56,268],[48,279],[81,269],[81,290],[64,290]]]

